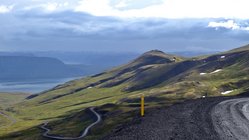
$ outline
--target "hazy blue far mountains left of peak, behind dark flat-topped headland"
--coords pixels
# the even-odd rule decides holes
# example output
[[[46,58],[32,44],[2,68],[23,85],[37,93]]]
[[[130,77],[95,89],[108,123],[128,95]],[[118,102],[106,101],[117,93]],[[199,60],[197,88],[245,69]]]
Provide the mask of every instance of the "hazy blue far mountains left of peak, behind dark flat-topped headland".
[[[129,62],[139,56],[130,52],[0,52],[0,56],[33,56],[56,58],[65,64],[80,67],[84,75],[93,75],[114,66]],[[103,63],[104,62],[104,63]]]

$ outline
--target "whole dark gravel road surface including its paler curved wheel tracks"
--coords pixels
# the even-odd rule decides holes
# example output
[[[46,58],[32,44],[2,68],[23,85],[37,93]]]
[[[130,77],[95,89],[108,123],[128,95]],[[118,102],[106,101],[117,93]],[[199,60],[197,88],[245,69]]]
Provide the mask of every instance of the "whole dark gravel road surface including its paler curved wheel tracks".
[[[249,140],[249,98],[205,98],[147,110],[103,139]]]

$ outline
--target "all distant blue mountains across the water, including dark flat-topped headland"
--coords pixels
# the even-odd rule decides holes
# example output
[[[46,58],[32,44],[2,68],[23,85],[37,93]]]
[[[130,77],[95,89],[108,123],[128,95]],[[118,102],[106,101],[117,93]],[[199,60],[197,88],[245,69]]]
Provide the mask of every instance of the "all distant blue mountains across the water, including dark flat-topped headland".
[[[190,57],[207,53],[173,54]],[[0,52],[0,81],[93,75],[128,63],[139,55],[128,52]]]

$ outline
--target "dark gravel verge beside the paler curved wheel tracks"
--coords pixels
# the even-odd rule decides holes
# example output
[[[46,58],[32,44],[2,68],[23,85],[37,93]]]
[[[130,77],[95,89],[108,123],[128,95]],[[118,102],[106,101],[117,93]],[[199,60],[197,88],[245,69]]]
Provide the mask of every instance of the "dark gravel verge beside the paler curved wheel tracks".
[[[217,97],[190,100],[168,108],[160,108],[147,112],[142,119],[116,130],[106,140],[220,140],[226,139],[217,127],[220,120],[219,104],[231,98]],[[248,99],[247,99],[248,100]],[[219,104],[218,106],[216,106]],[[226,104],[226,103],[225,103]],[[223,107],[223,105],[222,105]],[[224,106],[227,108],[227,105]],[[233,108],[233,107],[232,107]],[[213,111],[215,109],[215,111]],[[214,115],[211,113],[216,112]],[[229,116],[229,112],[227,116]],[[215,123],[213,123],[215,120]],[[224,124],[225,125],[225,124]],[[249,126],[249,125],[248,125]],[[248,129],[249,130],[249,129]],[[249,134],[249,133],[248,133]]]

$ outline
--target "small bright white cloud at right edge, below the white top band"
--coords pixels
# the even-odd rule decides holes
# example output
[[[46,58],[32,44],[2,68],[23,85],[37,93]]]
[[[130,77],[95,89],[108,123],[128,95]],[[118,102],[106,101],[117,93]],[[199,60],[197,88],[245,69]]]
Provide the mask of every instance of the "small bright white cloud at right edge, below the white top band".
[[[232,30],[244,30],[249,31],[249,26],[241,26],[240,24],[236,23],[234,20],[227,20],[221,22],[209,22],[208,27],[215,28],[218,30],[219,28],[226,28]]]

